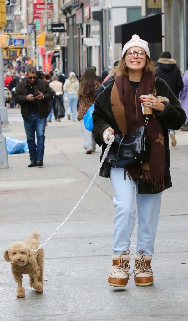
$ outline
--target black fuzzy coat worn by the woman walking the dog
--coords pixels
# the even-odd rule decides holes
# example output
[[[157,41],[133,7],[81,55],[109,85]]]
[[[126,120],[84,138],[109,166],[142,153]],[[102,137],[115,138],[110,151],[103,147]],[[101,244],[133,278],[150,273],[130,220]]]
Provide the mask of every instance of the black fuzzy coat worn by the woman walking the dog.
[[[95,100],[95,108],[93,112],[93,135],[94,140],[99,146],[102,145],[102,155],[106,148],[106,144],[103,142],[102,133],[108,127],[112,127],[116,134],[120,134],[119,128],[113,116],[110,103],[111,90],[114,84],[114,79],[110,81],[109,85],[102,91]],[[168,128],[179,130],[180,127],[186,121],[186,114],[182,109],[176,96],[171,91],[168,84],[160,79],[156,78],[155,89],[157,91],[157,96],[164,96],[169,99],[169,103],[165,102],[165,108],[163,111],[159,112],[153,109],[156,117],[162,124],[165,142],[165,189],[172,187],[171,177],[170,177],[170,152],[169,152],[169,141],[168,141]],[[141,107],[140,107],[141,108]],[[101,155],[101,159],[102,159]],[[110,165],[104,161],[100,170],[100,176],[110,177]],[[160,191],[155,191],[152,184],[143,182],[142,175],[138,179],[138,193],[139,194],[157,194]]]

